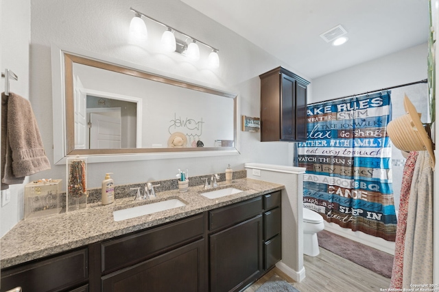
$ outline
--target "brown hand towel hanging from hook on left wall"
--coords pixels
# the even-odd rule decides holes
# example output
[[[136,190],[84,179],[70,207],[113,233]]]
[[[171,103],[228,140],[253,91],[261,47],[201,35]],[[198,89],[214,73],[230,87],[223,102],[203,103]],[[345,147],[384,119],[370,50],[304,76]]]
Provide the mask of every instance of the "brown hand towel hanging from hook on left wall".
[[[1,155],[4,159],[1,161],[3,170],[1,189],[4,189],[8,187],[3,186],[3,183],[8,185],[23,183],[25,176],[49,170],[50,163],[29,101],[12,92],[9,96],[1,94],[1,101]]]

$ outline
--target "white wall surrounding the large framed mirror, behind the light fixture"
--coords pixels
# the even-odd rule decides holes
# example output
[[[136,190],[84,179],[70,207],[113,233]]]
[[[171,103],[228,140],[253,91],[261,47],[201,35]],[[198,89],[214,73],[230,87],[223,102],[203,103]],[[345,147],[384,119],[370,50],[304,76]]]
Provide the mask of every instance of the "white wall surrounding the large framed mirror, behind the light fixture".
[[[145,21],[148,25],[148,38],[152,41],[145,44],[145,47],[130,44],[128,27],[134,16],[130,7],[217,47],[220,67],[207,70],[203,58],[200,58],[200,62],[191,63],[176,53],[162,53],[157,44],[163,27],[152,22]],[[259,74],[280,64],[285,65],[178,0],[155,0],[148,3],[139,0],[32,0],[31,40],[31,101],[51,161],[51,42],[227,88],[240,94],[241,114],[248,116],[259,116]],[[203,50],[202,46],[200,50]],[[205,59],[208,52],[201,53]],[[174,178],[178,168],[189,169],[192,175],[201,175],[224,172],[228,163],[234,170],[243,170],[246,161],[285,164],[288,149],[286,143],[259,143],[259,133],[241,133],[241,155],[238,157],[90,163],[88,186],[99,187],[106,172],[113,172],[112,178],[119,185]],[[65,166],[53,165],[52,170],[36,174],[32,179],[65,179],[64,173]]]

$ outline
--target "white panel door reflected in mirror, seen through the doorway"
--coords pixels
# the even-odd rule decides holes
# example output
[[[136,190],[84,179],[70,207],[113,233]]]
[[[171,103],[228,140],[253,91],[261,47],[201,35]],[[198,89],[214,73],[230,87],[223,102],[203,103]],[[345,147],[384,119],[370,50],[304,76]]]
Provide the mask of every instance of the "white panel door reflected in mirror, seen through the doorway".
[[[121,148],[121,115],[90,113],[90,148]]]

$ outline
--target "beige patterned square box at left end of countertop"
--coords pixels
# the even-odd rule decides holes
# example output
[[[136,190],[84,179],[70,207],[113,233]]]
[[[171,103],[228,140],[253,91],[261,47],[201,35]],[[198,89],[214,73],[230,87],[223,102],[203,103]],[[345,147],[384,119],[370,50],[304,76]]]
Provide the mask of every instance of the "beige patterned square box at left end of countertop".
[[[61,181],[43,179],[25,185],[25,220],[60,213]]]

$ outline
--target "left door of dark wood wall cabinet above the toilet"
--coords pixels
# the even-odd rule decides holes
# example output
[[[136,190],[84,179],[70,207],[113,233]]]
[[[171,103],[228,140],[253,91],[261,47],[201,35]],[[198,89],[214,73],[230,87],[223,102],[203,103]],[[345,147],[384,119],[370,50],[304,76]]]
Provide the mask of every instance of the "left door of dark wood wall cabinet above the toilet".
[[[296,140],[296,79],[282,74],[281,140]]]

